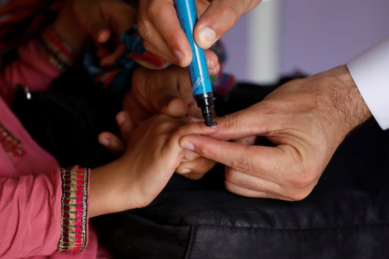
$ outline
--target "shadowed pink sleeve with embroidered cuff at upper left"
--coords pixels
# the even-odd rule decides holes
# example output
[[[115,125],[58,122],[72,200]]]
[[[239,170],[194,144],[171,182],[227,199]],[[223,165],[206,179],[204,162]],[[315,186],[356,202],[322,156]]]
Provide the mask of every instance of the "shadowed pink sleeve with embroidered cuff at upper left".
[[[53,26],[43,29],[40,37],[19,47],[18,59],[0,71],[0,94],[9,105],[16,84],[32,91],[46,90],[53,79],[75,62],[77,53]]]

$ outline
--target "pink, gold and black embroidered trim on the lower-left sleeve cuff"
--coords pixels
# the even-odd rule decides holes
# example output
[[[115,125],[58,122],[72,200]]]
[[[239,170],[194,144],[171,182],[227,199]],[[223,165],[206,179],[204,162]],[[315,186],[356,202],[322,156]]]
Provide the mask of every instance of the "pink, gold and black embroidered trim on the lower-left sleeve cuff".
[[[62,220],[58,251],[81,252],[87,238],[88,169],[62,168]]]

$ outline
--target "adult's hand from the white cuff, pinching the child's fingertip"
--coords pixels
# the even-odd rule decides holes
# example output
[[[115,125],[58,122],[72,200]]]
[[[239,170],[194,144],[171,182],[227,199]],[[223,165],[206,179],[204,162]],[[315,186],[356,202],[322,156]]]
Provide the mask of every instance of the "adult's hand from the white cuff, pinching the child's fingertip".
[[[233,193],[301,200],[345,136],[369,117],[349,71],[339,66],[287,82],[262,102],[215,120],[212,138],[188,135],[180,145],[225,164]],[[274,146],[256,145],[258,136]]]

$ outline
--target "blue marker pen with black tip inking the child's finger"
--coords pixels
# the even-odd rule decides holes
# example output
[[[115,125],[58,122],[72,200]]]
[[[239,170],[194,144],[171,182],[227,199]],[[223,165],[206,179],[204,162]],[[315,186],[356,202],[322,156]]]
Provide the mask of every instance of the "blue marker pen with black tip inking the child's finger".
[[[195,0],[174,0],[177,15],[192,49],[192,62],[188,66],[192,83],[192,95],[201,108],[205,124],[212,126],[213,92],[208,71],[207,59],[203,49],[197,46],[193,37],[193,29],[197,22]]]

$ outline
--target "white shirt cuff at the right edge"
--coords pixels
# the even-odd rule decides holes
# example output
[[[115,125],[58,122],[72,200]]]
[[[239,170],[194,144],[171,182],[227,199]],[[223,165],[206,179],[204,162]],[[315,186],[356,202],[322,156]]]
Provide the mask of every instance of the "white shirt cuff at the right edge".
[[[389,37],[346,65],[374,119],[382,129],[388,129]]]

